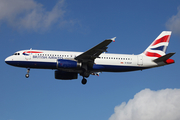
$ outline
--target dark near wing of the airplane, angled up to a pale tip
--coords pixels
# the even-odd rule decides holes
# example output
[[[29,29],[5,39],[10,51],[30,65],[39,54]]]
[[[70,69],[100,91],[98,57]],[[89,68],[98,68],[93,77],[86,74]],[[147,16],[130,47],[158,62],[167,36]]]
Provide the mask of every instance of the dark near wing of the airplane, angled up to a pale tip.
[[[75,57],[75,60],[78,60],[79,62],[88,63],[93,62],[94,59],[99,58],[99,55],[103,52],[107,52],[106,49],[107,46],[112,42],[115,41],[115,38],[104,40],[103,42],[99,43],[95,47],[87,50],[86,52],[80,54],[79,56]]]

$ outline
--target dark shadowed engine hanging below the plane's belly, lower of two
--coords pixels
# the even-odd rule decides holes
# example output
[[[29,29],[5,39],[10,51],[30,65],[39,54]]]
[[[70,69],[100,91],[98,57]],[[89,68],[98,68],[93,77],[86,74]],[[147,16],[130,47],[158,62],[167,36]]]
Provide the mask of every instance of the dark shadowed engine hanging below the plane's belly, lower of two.
[[[57,70],[55,71],[55,78],[61,80],[72,80],[78,78],[78,73],[75,72],[65,72]]]

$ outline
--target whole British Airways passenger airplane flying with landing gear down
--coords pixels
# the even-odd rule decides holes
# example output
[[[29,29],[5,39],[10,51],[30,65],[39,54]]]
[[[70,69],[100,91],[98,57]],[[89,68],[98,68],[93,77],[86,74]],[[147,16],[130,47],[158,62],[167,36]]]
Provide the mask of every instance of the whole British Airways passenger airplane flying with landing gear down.
[[[171,31],[163,31],[141,54],[110,54],[107,46],[115,38],[106,39],[86,52],[21,50],[7,57],[5,62],[16,67],[27,68],[26,78],[31,68],[53,69],[55,79],[77,79],[83,77],[81,83],[87,83],[90,75],[99,76],[101,72],[128,72],[149,69],[174,63],[170,59],[175,53],[166,54]]]

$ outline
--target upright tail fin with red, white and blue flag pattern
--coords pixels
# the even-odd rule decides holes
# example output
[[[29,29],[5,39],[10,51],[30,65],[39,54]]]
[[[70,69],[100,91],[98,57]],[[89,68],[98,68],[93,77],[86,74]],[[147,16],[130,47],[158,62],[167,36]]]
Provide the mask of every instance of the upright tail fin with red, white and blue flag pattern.
[[[148,57],[164,56],[166,54],[170,37],[171,31],[163,31],[141,55]]]

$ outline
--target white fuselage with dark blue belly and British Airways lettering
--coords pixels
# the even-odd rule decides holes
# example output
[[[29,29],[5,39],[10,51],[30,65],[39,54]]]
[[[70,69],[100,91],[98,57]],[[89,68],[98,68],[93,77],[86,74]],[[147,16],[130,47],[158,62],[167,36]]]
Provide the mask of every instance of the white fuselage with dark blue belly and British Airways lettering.
[[[74,60],[82,52],[47,51],[47,50],[22,50],[6,58],[6,63],[25,68],[58,69],[58,59]],[[151,67],[165,65],[164,62],[155,63],[152,60],[156,57],[128,54],[102,53],[94,61],[92,72],[126,72],[142,70]]]

